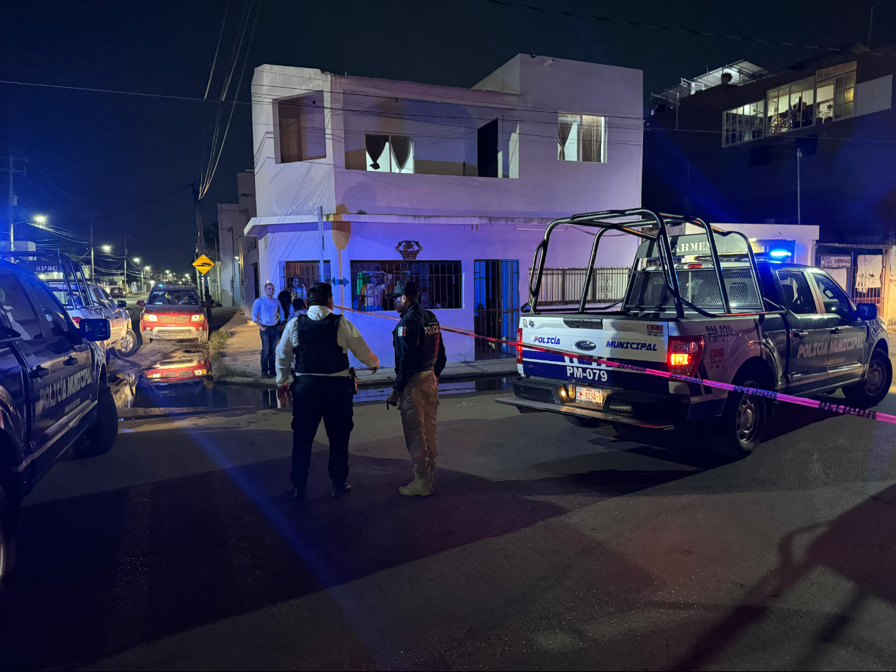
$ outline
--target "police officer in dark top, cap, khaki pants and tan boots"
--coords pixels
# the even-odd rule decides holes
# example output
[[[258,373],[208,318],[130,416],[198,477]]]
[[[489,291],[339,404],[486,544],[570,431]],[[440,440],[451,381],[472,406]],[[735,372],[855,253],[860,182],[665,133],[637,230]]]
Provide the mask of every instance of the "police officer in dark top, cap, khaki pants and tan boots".
[[[395,384],[386,400],[401,410],[404,441],[414,462],[414,478],[401,486],[401,495],[432,495],[435,456],[435,413],[439,407],[438,377],[445,366],[445,347],[435,314],[420,307],[420,287],[399,280],[395,310],[401,320],[392,332],[395,346]]]

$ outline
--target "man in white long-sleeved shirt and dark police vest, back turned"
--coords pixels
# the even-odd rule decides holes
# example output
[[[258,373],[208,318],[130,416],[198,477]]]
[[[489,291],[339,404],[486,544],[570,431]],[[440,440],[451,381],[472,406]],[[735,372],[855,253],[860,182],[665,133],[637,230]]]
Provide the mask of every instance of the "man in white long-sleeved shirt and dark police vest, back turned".
[[[332,287],[319,282],[308,288],[308,313],[287,323],[277,346],[277,397],[292,399],[292,495],[305,497],[311,444],[321,424],[330,440],[330,479],[334,497],[349,492],[349,436],[354,381],[349,373],[349,350],[363,364],[379,368],[380,360],[367,346],[355,325],[333,314]],[[296,358],[296,379],[289,385],[290,366]]]

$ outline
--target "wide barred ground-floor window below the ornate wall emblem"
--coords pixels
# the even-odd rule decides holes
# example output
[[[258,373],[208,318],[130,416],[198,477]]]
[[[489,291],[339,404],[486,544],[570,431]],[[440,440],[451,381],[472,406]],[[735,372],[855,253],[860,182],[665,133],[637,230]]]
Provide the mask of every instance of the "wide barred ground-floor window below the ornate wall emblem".
[[[395,301],[387,294],[399,280],[420,286],[420,306],[461,308],[463,280],[461,262],[352,262],[351,303],[355,310],[394,310]]]

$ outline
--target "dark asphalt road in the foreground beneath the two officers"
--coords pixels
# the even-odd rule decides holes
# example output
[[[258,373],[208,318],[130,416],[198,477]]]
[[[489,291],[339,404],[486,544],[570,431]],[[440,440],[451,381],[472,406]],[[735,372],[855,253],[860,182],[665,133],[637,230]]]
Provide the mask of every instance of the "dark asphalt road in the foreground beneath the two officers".
[[[26,500],[0,666],[896,667],[896,428],[780,409],[724,463],[495,394],[444,396],[425,499],[380,403],[300,504],[288,412],[122,423]]]

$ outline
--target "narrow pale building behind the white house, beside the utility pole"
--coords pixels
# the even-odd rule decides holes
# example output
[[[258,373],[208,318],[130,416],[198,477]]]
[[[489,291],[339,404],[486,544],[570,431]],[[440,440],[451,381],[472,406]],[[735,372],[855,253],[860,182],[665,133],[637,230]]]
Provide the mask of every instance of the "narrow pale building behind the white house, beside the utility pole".
[[[258,294],[257,282],[254,282],[258,241],[244,233],[246,224],[255,216],[255,178],[251,170],[237,173],[237,194],[236,203],[218,203],[220,303],[242,306],[250,314]]]

